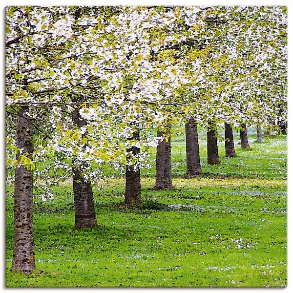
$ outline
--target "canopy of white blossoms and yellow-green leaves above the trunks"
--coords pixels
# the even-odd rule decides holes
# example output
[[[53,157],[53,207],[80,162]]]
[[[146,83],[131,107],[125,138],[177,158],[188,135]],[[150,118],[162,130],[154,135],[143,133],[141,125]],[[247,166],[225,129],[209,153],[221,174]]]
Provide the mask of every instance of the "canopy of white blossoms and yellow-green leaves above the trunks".
[[[75,9],[6,11],[6,105],[31,103],[27,117],[50,132],[50,139],[40,134],[36,161],[56,152],[101,169],[112,161],[120,170],[126,148],[162,139],[130,143],[133,123],[144,135],[180,123],[182,113],[202,125],[286,117],[283,8],[119,6],[108,14],[89,7],[78,19]],[[75,107],[86,122],[80,129],[72,122]],[[146,152],[127,164],[149,167]],[[101,178],[101,169],[88,179]]]

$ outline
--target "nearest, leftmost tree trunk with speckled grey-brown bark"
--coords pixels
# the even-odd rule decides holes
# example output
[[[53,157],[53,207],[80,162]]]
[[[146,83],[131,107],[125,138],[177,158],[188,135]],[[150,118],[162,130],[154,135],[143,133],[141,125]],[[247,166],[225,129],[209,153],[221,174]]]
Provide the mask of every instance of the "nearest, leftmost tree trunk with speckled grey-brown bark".
[[[17,146],[31,158],[33,152],[33,126],[28,118],[28,106],[21,106],[17,115]],[[20,153],[16,155],[19,160]],[[14,187],[14,247],[13,272],[29,274],[36,269],[33,225],[33,172],[25,167],[15,169]]]

